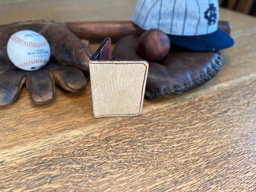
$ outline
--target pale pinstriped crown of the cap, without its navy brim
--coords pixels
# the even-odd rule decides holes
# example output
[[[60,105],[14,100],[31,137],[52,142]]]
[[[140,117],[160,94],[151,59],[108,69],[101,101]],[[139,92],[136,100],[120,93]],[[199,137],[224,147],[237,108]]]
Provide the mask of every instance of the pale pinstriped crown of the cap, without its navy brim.
[[[143,30],[195,36],[217,31],[218,17],[218,0],[138,0],[132,21]]]

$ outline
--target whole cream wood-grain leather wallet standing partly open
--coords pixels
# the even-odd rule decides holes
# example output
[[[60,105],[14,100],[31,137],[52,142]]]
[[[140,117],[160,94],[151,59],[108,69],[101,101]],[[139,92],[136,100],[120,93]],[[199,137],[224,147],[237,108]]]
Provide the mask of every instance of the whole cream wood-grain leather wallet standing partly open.
[[[89,66],[95,118],[142,113],[148,62],[111,60],[111,39],[106,38]]]

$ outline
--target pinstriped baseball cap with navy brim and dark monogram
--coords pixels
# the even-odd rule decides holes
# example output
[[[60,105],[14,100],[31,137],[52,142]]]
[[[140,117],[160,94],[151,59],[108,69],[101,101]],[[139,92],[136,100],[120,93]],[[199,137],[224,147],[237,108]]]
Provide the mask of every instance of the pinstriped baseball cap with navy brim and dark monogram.
[[[138,0],[132,14],[132,22],[143,30],[161,30],[173,44],[196,51],[234,45],[218,28],[218,18],[218,0]]]

